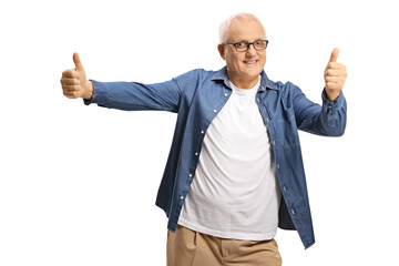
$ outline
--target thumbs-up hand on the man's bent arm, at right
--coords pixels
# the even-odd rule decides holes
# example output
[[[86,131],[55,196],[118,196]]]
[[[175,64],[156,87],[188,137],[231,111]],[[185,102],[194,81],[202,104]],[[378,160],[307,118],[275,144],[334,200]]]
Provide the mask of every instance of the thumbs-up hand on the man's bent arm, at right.
[[[339,50],[334,49],[325,70],[326,93],[330,101],[336,101],[347,78],[345,64],[337,63]]]

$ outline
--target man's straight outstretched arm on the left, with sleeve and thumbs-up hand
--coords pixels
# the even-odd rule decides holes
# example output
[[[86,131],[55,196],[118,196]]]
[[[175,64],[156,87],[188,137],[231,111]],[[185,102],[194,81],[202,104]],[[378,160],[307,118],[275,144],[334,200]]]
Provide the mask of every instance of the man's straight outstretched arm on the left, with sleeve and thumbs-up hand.
[[[88,80],[79,54],[73,54],[75,69],[62,73],[63,94],[69,99],[82,98],[85,104],[127,111],[162,110],[178,112],[182,88],[192,72],[162,83],[99,82]]]

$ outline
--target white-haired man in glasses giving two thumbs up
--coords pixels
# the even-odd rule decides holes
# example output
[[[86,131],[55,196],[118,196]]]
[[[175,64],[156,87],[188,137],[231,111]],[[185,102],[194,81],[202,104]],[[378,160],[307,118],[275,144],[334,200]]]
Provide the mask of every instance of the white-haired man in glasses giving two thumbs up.
[[[85,104],[176,112],[156,205],[168,217],[167,265],[282,265],[277,227],[315,243],[297,130],[339,136],[346,126],[345,65],[335,49],[323,106],[264,72],[266,32],[247,13],[221,25],[219,71],[193,70],[156,84],[62,73],[63,93]]]

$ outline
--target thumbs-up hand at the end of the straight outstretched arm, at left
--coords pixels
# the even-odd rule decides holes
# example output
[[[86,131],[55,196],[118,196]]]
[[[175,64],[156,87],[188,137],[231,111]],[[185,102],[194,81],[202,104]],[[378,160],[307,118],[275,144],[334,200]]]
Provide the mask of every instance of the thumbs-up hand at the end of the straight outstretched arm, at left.
[[[73,53],[75,69],[62,72],[60,80],[63,94],[69,99],[83,98],[91,100],[93,96],[93,84],[86,79],[83,64],[78,53]]]

